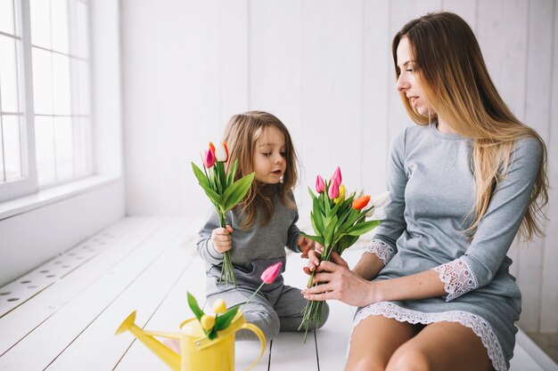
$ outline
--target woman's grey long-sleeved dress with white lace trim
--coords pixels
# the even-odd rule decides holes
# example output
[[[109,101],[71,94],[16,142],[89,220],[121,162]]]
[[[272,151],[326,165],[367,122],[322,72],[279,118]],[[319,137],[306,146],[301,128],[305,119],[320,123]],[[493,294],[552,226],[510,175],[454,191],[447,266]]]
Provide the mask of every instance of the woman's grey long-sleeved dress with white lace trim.
[[[513,357],[514,322],[521,293],[506,256],[529,206],[542,149],[535,138],[517,141],[508,173],[500,181],[472,242],[470,225],[474,180],[472,142],[441,133],[435,124],[407,127],[390,152],[386,218],[367,253],[385,267],[375,279],[436,270],[447,295],[422,300],[377,302],[359,308],[354,326],[368,316],[430,324],[459,322],[480,336],[496,370]]]

